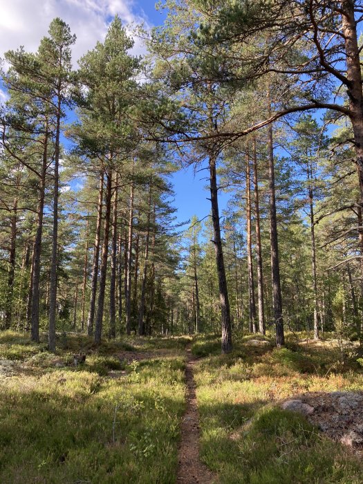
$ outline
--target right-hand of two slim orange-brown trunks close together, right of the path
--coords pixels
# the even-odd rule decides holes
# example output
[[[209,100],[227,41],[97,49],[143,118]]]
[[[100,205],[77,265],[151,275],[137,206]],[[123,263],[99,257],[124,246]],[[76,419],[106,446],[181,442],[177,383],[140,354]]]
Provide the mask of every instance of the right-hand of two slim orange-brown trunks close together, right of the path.
[[[254,210],[256,212],[256,252],[257,252],[257,297],[259,299],[259,332],[266,334],[265,308],[263,305],[263,262],[261,245],[260,207],[259,207],[259,175],[257,167],[256,138],[253,139],[253,182]]]

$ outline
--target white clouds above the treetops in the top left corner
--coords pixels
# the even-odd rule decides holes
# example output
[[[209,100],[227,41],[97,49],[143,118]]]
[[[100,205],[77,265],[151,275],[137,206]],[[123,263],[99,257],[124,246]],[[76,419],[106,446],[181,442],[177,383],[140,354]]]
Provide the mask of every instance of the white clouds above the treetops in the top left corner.
[[[73,63],[97,40],[102,41],[112,17],[118,14],[123,23],[140,24],[147,20],[133,12],[132,0],[0,0],[0,57],[7,50],[24,46],[34,52],[48,33],[50,21],[60,17],[77,35]],[[135,39],[133,53],[142,53],[142,43]]]

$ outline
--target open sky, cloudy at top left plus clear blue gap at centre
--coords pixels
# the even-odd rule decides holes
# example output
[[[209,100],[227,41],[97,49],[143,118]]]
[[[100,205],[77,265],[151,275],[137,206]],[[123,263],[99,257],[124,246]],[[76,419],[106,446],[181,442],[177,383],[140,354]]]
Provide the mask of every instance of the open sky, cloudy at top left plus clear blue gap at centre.
[[[97,40],[103,40],[107,25],[115,14],[124,24],[144,22],[146,26],[162,23],[165,12],[155,9],[153,0],[0,0],[0,56],[9,49],[23,45],[26,50],[36,50],[41,37],[46,35],[54,17],[61,17],[77,35],[73,59],[79,59],[93,48]],[[134,53],[145,52],[142,42],[135,39]],[[0,91],[0,101],[4,99]],[[178,171],[173,177],[176,192],[174,205],[178,208],[178,222],[186,221],[195,214],[199,219],[210,212],[207,171],[194,176],[191,168]],[[227,196],[221,195],[221,210]]]

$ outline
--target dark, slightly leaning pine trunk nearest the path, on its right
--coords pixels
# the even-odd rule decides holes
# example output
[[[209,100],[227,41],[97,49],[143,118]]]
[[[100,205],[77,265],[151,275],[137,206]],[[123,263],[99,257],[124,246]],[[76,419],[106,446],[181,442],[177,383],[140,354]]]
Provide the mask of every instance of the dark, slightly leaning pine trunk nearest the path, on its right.
[[[232,351],[232,324],[230,317],[230,301],[228,300],[227,278],[225,277],[225,265],[223,259],[223,247],[221,239],[221,225],[218,210],[218,187],[216,178],[216,157],[209,158],[210,168],[210,200],[212,205],[212,221],[214,230],[214,250],[216,252],[216,266],[218,272],[219,299],[221,301],[222,317],[222,353]]]

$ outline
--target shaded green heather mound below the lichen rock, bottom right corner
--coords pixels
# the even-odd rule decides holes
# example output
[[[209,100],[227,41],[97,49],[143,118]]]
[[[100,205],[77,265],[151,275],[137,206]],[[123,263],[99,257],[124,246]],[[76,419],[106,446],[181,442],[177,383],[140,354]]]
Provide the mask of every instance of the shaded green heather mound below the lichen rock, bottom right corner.
[[[296,413],[265,407],[239,438],[217,437],[209,439],[204,457],[212,468],[218,465],[214,451],[224,460],[221,483],[359,483],[362,478],[358,460]]]

